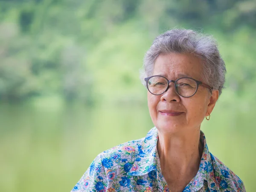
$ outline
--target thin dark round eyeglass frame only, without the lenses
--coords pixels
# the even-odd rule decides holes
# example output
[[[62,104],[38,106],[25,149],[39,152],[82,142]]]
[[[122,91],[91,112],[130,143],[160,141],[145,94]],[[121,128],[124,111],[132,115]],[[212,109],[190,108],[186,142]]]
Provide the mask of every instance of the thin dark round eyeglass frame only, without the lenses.
[[[193,78],[191,78],[191,77],[181,77],[181,78],[176,79],[176,80],[174,81],[174,80],[169,80],[169,79],[167,79],[167,78],[164,77],[164,76],[150,76],[150,77],[146,77],[146,78],[145,78],[145,81],[146,81],[147,89],[148,89],[149,93],[151,93],[151,91],[150,91],[149,88],[148,88],[148,80],[149,80],[150,78],[152,78],[152,77],[163,77],[164,79],[166,79],[166,80],[168,81],[168,86],[166,87],[166,90],[165,90],[163,93],[165,93],[165,92],[169,89],[169,84],[170,84],[171,82],[173,82],[173,83],[174,83],[174,87],[175,87],[175,91],[176,91],[176,93],[177,93],[179,96],[182,96],[182,95],[180,95],[180,94],[178,93],[176,82],[177,82],[178,80],[180,80],[180,79],[193,79]],[[198,80],[195,80],[195,79],[193,79],[193,80],[196,82],[196,85],[197,85],[196,90],[195,90],[195,93],[197,92],[198,87],[199,87],[200,84],[203,85],[204,87],[207,87],[210,91],[212,91],[213,87],[209,86],[208,84],[205,84],[205,83],[203,83],[202,81],[198,81]],[[161,94],[154,94],[154,93],[151,93],[151,94],[153,94],[153,95],[162,95],[163,93],[161,93]],[[193,95],[195,95],[195,93],[194,93]],[[192,96],[193,96],[193,95],[192,95]],[[192,97],[192,96],[188,96],[188,97]],[[182,96],[182,97],[185,97],[185,96]],[[188,98],[188,97],[186,97],[186,98]]]

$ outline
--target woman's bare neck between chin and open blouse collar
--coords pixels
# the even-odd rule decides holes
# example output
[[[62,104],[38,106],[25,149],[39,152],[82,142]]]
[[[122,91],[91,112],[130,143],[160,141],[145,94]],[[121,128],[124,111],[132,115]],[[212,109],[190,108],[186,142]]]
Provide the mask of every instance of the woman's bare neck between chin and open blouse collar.
[[[195,174],[200,165],[203,145],[200,145],[200,127],[186,133],[158,131],[157,151],[162,170],[171,175]]]

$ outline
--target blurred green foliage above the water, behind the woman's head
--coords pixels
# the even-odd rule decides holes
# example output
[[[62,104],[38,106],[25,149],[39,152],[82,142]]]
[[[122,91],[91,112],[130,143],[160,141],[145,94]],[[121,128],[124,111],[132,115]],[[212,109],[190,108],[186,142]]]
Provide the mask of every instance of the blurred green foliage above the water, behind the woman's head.
[[[255,82],[255,0],[2,0],[0,9],[3,101],[53,95],[92,104],[111,99],[107,82],[120,89],[116,100],[140,102],[134,71],[153,38],[174,26],[217,38],[238,96]]]

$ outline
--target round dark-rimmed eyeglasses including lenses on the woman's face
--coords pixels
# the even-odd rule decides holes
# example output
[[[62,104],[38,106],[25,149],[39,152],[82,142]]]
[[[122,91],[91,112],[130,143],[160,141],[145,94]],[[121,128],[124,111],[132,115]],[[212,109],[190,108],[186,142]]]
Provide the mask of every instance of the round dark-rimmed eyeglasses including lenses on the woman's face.
[[[201,84],[204,87],[212,90],[212,87],[190,77],[182,77],[174,80],[168,80],[164,76],[151,76],[145,78],[148,91],[153,95],[161,95],[165,93],[169,88],[169,83],[173,82],[176,92],[182,97],[192,97],[198,90],[198,86]]]

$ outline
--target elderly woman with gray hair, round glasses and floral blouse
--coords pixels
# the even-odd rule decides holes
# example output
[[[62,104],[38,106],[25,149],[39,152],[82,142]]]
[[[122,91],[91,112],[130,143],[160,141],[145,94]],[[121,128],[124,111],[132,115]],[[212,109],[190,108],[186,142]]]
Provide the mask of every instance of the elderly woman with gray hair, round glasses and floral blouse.
[[[221,95],[226,68],[216,42],[193,30],[159,35],[142,73],[155,127],[99,154],[72,191],[245,192],[200,131]]]

